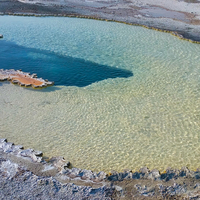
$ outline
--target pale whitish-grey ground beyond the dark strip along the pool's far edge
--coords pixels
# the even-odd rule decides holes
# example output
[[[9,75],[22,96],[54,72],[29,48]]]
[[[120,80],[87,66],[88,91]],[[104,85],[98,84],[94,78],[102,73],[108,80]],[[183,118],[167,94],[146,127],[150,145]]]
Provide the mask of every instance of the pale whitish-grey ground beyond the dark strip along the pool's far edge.
[[[97,18],[179,31],[181,34],[183,33],[185,38],[200,41],[200,2],[188,3],[187,0],[19,1],[59,9],[62,14],[89,15]]]

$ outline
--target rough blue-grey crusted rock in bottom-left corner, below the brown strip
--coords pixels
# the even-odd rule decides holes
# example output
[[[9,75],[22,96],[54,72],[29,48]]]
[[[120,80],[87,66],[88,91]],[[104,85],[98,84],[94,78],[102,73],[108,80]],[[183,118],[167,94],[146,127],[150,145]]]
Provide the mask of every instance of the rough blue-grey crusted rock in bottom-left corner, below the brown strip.
[[[73,183],[61,184],[52,177],[38,177],[22,170],[10,161],[0,163],[0,199],[111,200],[113,191],[106,186],[95,189]]]

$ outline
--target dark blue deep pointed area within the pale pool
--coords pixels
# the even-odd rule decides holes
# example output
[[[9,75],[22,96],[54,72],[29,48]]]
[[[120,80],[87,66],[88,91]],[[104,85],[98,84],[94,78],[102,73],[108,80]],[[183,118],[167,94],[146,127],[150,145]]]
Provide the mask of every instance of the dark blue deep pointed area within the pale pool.
[[[0,42],[0,62],[0,68],[37,73],[38,77],[54,81],[55,85],[84,87],[108,78],[133,76],[128,70],[26,48],[5,40]]]

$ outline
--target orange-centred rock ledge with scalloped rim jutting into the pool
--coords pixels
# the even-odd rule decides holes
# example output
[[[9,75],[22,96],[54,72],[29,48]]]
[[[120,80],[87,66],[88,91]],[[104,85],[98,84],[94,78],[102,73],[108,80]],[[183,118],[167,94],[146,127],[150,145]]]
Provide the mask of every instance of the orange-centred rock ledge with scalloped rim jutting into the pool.
[[[54,82],[47,79],[37,78],[37,74],[30,74],[22,72],[21,70],[3,70],[0,69],[0,81],[10,81],[13,84],[18,84],[24,87],[44,88],[51,86]]]

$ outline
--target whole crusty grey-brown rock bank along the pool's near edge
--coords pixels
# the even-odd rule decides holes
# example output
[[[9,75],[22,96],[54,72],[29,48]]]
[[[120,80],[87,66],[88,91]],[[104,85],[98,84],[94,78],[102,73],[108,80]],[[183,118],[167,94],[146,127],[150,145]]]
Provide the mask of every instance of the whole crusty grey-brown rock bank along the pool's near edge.
[[[63,157],[45,160],[41,151],[0,139],[0,196],[4,199],[199,199],[200,170],[141,168],[92,172],[70,168]],[[23,192],[22,192],[23,191]],[[8,195],[9,194],[9,195]]]

